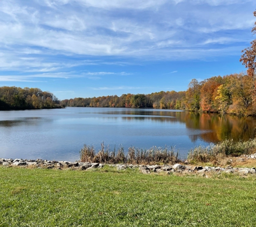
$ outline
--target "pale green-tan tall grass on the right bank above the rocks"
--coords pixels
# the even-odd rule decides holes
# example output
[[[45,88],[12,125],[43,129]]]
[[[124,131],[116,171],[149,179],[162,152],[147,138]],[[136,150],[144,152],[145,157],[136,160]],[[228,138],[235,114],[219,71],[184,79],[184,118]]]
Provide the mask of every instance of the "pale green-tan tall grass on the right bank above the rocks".
[[[251,154],[256,150],[256,139],[235,142],[233,139],[226,139],[216,145],[197,146],[188,153],[189,161],[209,162],[223,157],[237,157],[242,154]]]

